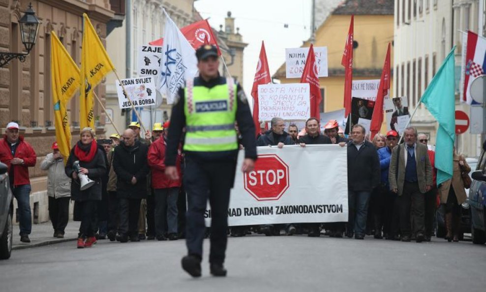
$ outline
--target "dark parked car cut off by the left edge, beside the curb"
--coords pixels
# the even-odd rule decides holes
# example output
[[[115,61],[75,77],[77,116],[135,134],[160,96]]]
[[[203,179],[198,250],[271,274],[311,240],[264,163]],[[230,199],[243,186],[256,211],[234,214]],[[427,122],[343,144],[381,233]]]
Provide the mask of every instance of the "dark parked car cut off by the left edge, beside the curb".
[[[10,258],[12,252],[12,192],[7,165],[0,162],[0,260]]]

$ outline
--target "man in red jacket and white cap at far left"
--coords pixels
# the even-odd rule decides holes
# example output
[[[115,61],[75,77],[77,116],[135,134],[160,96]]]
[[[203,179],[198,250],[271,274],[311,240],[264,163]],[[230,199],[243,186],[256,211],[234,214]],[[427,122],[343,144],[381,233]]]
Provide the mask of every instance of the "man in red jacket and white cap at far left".
[[[29,168],[36,162],[35,152],[24,137],[19,135],[19,125],[8,123],[5,136],[0,140],[0,162],[8,167],[10,189],[17,199],[20,241],[30,242],[29,234],[32,229],[30,213],[30,180]]]

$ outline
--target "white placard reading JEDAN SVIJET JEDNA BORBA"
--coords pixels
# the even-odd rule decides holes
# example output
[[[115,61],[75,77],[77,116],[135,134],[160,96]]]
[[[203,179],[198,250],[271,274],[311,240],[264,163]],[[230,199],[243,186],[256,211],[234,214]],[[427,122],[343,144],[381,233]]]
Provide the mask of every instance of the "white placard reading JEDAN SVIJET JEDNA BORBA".
[[[134,106],[150,106],[155,104],[155,84],[152,76],[122,79],[128,99],[123,92],[122,85],[115,81],[117,87],[118,103],[120,108],[130,108],[130,100]]]

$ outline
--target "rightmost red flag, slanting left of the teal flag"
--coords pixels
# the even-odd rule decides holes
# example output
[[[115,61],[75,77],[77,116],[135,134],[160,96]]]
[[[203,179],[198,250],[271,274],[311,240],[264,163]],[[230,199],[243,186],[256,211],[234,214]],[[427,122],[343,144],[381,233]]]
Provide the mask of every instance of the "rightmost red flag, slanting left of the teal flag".
[[[385,57],[385,64],[383,64],[383,71],[381,71],[380,86],[376,94],[375,106],[373,109],[373,116],[371,116],[371,126],[369,127],[369,140],[380,132],[381,124],[383,123],[383,100],[390,97],[390,43],[388,43],[387,56]]]

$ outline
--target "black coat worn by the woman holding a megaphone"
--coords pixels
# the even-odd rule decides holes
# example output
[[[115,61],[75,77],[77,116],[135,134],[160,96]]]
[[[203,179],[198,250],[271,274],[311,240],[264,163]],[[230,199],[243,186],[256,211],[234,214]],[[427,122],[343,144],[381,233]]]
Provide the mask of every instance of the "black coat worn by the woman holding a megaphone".
[[[105,153],[102,150],[97,150],[96,155],[90,162],[82,162],[74,154],[74,147],[71,149],[69,158],[67,159],[64,172],[71,178],[71,198],[74,201],[81,202],[86,200],[101,200],[102,183],[101,178],[106,173]],[[96,183],[91,188],[81,191],[79,178],[73,179],[74,172],[73,163],[79,161],[79,166],[88,169],[88,177]]]

